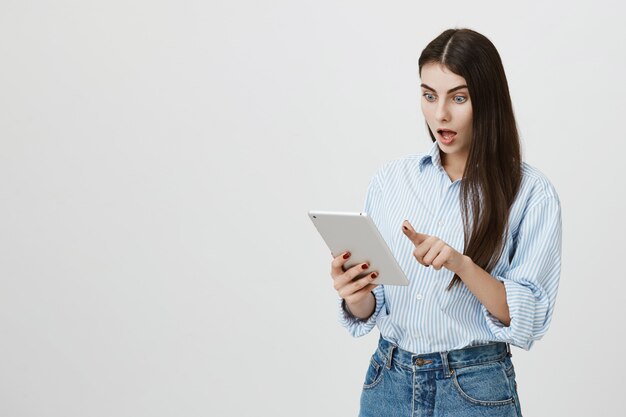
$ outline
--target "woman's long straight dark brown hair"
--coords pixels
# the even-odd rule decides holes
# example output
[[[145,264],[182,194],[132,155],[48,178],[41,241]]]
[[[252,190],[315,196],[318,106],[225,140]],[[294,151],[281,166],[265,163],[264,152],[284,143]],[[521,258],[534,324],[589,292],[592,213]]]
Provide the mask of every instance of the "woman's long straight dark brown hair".
[[[522,178],[519,134],[502,60],[489,39],[463,28],[444,31],[424,48],[418,60],[420,77],[430,63],[465,78],[469,90],[473,126],[460,191],[463,253],[491,272],[504,250],[509,211]],[[447,289],[459,281],[454,274]]]

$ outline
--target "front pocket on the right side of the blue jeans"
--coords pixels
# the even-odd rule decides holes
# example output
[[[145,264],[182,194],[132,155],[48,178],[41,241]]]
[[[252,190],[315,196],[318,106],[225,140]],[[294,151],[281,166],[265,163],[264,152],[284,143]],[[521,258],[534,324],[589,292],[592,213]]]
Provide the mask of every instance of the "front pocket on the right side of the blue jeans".
[[[503,360],[455,368],[452,382],[472,404],[495,406],[515,401]]]

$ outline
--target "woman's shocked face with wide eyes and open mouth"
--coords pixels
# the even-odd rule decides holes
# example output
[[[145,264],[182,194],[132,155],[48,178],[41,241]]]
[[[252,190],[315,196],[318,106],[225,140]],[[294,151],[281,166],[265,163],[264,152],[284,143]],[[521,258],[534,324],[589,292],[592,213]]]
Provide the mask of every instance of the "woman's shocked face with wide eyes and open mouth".
[[[465,78],[438,63],[424,65],[421,78],[422,112],[439,148],[450,160],[466,161],[472,140],[472,103]]]

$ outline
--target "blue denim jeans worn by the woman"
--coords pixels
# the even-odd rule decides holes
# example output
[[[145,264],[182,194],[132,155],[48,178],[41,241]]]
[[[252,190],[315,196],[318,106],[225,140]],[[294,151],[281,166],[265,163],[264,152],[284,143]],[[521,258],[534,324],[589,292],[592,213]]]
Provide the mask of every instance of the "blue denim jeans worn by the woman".
[[[521,417],[510,346],[502,342],[416,355],[382,336],[359,417]]]

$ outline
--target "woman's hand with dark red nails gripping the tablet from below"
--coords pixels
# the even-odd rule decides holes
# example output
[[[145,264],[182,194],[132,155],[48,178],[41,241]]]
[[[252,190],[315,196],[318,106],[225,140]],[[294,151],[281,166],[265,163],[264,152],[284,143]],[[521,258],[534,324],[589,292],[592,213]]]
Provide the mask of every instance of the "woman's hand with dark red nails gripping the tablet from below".
[[[335,290],[346,301],[352,315],[365,319],[372,315],[376,307],[372,290],[378,284],[372,282],[378,276],[378,272],[372,271],[364,277],[355,279],[367,271],[369,264],[360,263],[345,270],[344,264],[348,259],[350,259],[350,252],[344,252],[335,257],[331,262],[330,275],[333,278]]]

